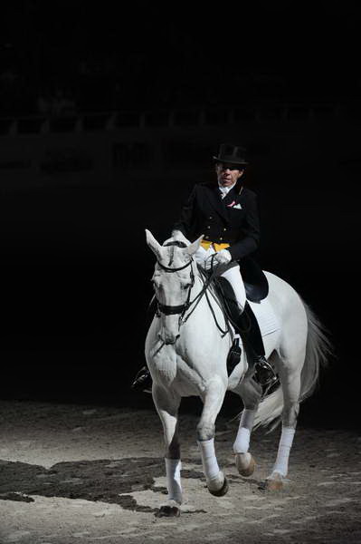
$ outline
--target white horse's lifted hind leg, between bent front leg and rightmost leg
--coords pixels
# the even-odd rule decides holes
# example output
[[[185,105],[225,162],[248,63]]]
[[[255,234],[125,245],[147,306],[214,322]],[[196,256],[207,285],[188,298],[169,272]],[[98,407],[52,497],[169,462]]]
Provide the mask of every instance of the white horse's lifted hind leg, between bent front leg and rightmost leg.
[[[237,389],[233,390],[233,393],[238,393],[244,404],[240,426],[233,443],[235,464],[242,476],[251,476],[256,463],[249,452],[249,448],[254,416],[261,400],[261,385],[256,384],[252,378],[246,378]]]

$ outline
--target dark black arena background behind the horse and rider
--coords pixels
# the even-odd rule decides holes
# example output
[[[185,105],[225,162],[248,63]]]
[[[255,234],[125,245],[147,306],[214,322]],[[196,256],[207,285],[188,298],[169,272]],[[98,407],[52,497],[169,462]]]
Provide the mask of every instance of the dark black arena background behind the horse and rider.
[[[344,2],[237,8],[8,3],[3,398],[152,404],[129,391],[152,296],[144,229],[168,238],[193,184],[214,176],[219,143],[241,141],[261,265],[299,291],[335,346],[301,422],[358,423],[360,16]],[[227,395],[224,410],[238,406]]]

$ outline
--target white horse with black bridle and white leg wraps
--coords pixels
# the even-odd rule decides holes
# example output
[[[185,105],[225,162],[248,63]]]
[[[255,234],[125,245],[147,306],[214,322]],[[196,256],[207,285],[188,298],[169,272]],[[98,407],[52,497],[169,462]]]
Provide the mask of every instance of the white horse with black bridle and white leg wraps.
[[[182,486],[177,414],[184,396],[198,395],[204,403],[197,425],[197,442],[208,490],[216,496],[228,491],[214,452],[214,423],[226,391],[238,393],[244,405],[233,443],[235,463],[242,476],[250,476],[255,468],[249,452],[252,428],[271,422],[277,426],[281,419],[279,450],[266,480],[268,489],[280,489],[288,473],[299,403],[313,392],[320,364],[327,362],[328,338],[296,291],[280,277],[266,272],[270,287],[267,299],[280,327],[265,335],[263,343],[266,357],[280,376],[280,386],[261,399],[261,387],[252,379],[254,371],[250,368],[248,372],[245,350],[233,373],[227,374],[226,359],[233,335],[220,332],[220,328],[226,326],[212,290],[207,290],[207,296],[202,295],[204,277],[194,258],[202,237],[193,244],[186,241],[187,245],[180,248],[160,246],[148,230],[146,234],[147,245],[157,257],[152,282],[158,312],[147,333],[145,353],[166,443],[168,501],[159,515],[178,516],[180,513]]]

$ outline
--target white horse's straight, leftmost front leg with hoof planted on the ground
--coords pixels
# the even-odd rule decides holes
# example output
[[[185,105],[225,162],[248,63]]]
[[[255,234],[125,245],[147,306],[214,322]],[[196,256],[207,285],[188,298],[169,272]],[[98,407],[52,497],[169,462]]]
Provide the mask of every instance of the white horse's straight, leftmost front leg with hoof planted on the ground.
[[[175,393],[153,384],[153,400],[163,424],[166,444],[166,484],[168,500],[157,512],[158,517],[179,516],[182,504],[181,460],[178,440],[178,408],[180,397]]]

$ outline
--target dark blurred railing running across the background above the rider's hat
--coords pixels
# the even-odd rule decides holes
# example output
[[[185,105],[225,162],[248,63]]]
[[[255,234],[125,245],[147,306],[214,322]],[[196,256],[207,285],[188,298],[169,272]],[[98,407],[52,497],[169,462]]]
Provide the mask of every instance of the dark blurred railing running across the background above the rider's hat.
[[[249,122],[317,122],[345,117],[341,104],[261,104],[158,110],[154,112],[79,113],[60,117],[0,118],[0,136],[26,134],[117,131],[125,129],[191,128],[242,125]],[[359,117],[359,112],[358,112]]]

